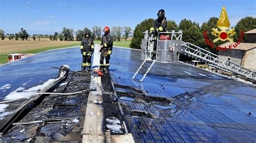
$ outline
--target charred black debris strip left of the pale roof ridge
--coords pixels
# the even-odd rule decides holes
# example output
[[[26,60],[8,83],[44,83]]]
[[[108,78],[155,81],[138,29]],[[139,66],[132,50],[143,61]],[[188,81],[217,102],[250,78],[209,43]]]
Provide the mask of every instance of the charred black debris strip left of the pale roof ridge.
[[[90,73],[70,74],[48,92],[77,92],[90,87]],[[76,95],[49,95],[18,121],[2,141],[82,141],[88,92]],[[39,121],[39,122],[38,122]],[[33,123],[38,122],[38,123]],[[28,124],[23,125],[22,123]],[[23,131],[24,130],[24,131]],[[23,131],[23,132],[21,132]]]

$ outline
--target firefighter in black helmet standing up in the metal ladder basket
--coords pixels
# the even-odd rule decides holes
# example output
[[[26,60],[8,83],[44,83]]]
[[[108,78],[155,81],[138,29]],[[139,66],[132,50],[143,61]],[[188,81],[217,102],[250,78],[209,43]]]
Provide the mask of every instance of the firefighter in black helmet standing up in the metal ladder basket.
[[[165,11],[163,9],[159,10],[157,13],[157,19],[154,20],[152,27],[150,28],[150,34],[153,34],[153,40],[154,40],[154,50],[153,50],[153,56],[152,59],[156,60],[156,54],[157,54],[157,35],[158,32],[165,32],[166,26],[167,26],[167,20],[165,17]]]

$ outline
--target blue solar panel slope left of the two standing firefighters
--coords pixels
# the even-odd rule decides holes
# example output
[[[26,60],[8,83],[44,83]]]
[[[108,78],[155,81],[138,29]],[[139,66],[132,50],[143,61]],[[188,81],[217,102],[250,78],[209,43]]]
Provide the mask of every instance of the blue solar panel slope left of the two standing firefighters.
[[[80,70],[81,61],[79,48],[66,48],[42,52],[2,65],[0,66],[0,101],[19,87],[29,89],[51,78],[57,78],[58,69],[52,67],[67,64],[71,70]],[[10,88],[2,89],[1,87],[6,84],[11,84]]]

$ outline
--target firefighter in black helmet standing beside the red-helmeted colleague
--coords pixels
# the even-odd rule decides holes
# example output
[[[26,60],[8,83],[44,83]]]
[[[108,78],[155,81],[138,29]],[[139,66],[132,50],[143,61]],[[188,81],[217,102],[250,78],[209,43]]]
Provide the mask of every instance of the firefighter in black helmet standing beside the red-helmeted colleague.
[[[90,38],[90,32],[85,33],[80,45],[81,54],[83,55],[82,70],[91,70],[91,56],[94,52],[93,39]]]

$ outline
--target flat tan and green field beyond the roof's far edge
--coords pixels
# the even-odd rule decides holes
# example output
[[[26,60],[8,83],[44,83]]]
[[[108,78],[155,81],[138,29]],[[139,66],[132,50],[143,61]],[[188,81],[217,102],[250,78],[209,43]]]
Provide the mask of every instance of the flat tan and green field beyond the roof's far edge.
[[[65,48],[79,46],[80,41],[50,41],[49,38],[41,38],[41,41],[36,40],[1,40],[0,41],[0,65],[8,62],[9,53],[40,53],[48,51],[49,49]],[[100,41],[94,41],[95,44],[99,44]],[[114,41],[114,46],[129,48],[130,41]]]

